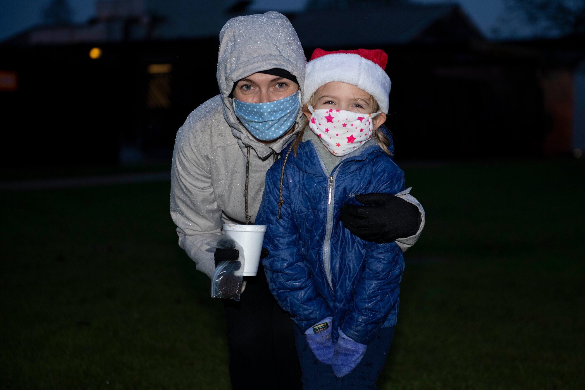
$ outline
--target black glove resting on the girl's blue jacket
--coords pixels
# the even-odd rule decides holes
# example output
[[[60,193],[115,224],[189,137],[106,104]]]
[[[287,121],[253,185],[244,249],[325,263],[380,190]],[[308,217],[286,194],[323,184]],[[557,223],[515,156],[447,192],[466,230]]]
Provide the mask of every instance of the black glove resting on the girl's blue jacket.
[[[421,225],[418,207],[399,196],[370,193],[356,195],[359,204],[344,204],[339,220],[362,240],[385,244],[416,234]]]

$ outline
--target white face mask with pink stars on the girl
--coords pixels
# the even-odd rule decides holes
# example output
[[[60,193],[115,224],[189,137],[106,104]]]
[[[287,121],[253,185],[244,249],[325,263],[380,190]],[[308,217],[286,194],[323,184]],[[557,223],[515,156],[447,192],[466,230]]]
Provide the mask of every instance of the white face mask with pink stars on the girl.
[[[371,138],[372,118],[380,114],[360,114],[343,110],[313,110],[309,128],[319,136],[325,148],[336,156],[353,152]]]

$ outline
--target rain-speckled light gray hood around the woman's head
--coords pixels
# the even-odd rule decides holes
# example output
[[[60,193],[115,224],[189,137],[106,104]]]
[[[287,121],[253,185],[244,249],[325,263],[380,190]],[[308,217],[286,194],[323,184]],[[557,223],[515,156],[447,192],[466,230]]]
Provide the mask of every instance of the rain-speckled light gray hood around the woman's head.
[[[230,19],[219,33],[219,42],[217,79],[223,100],[223,117],[233,136],[238,138],[242,150],[249,145],[261,159],[273,152],[280,153],[293,135],[278,138],[269,145],[257,141],[236,117],[229,95],[236,81],[273,68],[288,70],[297,77],[299,85],[303,85],[307,59],[297,33],[284,15],[270,11]],[[299,112],[299,118],[302,121],[302,112]],[[295,133],[300,128],[297,126]]]

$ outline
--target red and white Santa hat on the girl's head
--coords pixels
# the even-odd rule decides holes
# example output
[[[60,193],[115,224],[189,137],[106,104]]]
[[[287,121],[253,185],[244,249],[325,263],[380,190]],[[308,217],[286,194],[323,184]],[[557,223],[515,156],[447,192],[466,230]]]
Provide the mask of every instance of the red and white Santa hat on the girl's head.
[[[315,49],[305,70],[302,94],[308,102],[316,90],[332,81],[356,85],[376,99],[380,111],[388,114],[390,77],[386,74],[388,54],[384,50],[338,50],[327,52]]]

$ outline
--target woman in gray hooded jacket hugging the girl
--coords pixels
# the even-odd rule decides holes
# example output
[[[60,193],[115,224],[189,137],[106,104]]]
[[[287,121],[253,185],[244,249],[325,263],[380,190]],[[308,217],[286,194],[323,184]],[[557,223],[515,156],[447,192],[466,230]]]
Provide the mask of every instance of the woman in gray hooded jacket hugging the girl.
[[[219,39],[221,94],[191,112],[177,132],[171,172],[170,212],[179,246],[210,278],[215,260],[226,254],[205,242],[221,234],[224,223],[254,223],[267,170],[305,123],[297,101],[307,60],[284,15],[230,19]],[[261,103],[280,101],[289,105],[274,107],[271,117],[250,114],[256,107],[260,111]],[[353,234],[368,241],[397,241],[403,251],[424,226],[424,211],[409,194],[393,196],[384,208],[346,212],[344,224]],[[240,302],[227,299],[223,305],[232,387],[300,388],[292,321],[271,295],[261,266],[257,276],[246,278]]]

